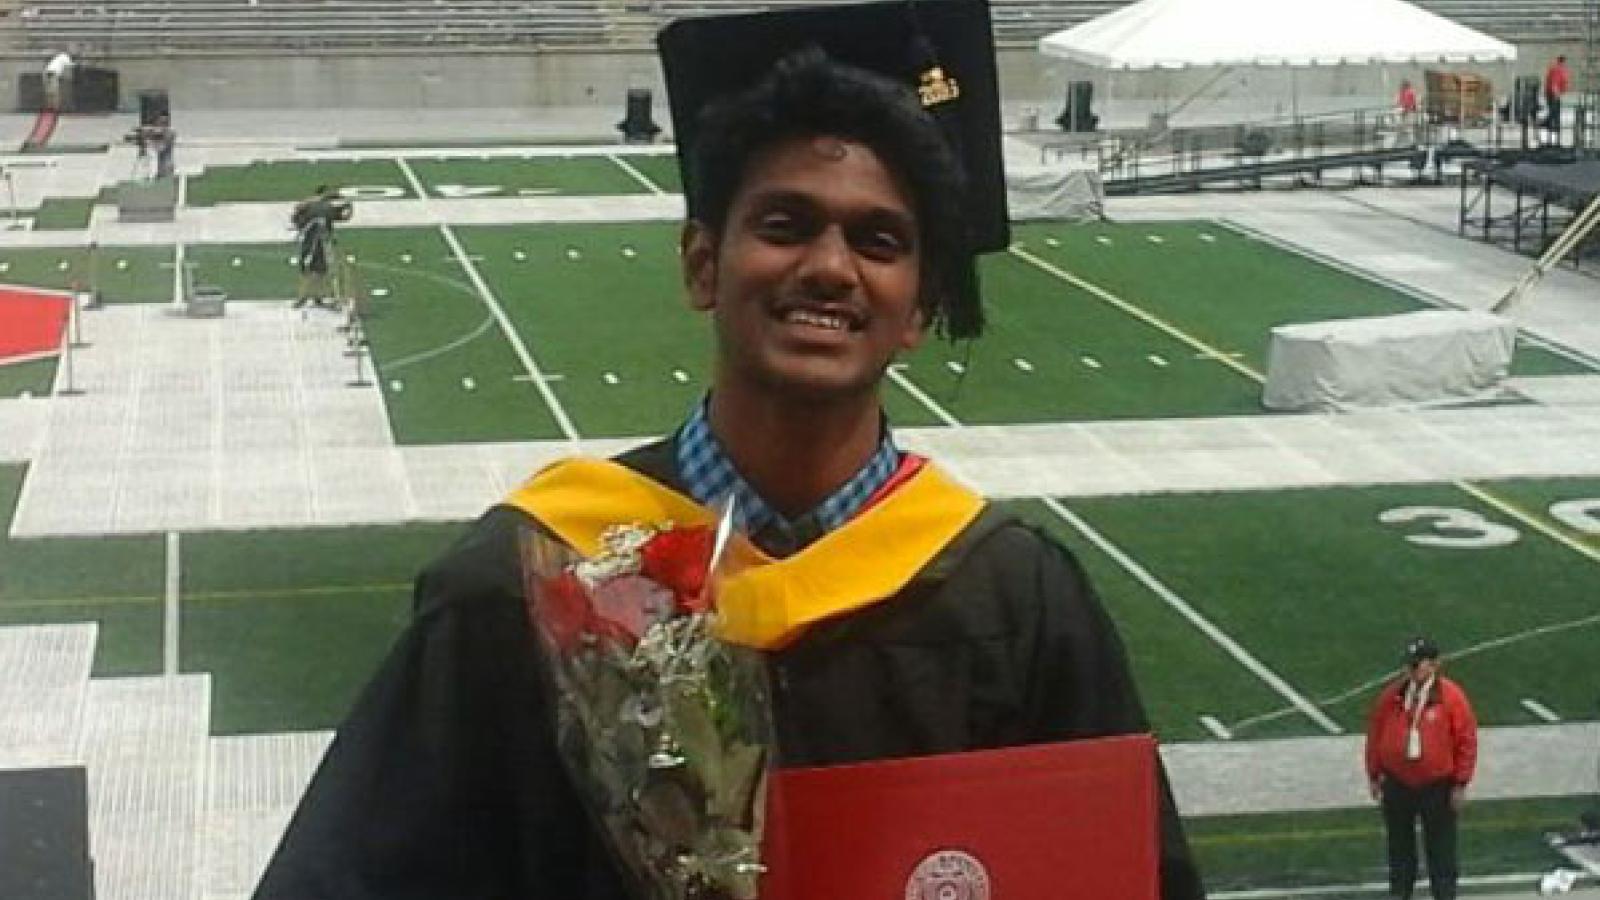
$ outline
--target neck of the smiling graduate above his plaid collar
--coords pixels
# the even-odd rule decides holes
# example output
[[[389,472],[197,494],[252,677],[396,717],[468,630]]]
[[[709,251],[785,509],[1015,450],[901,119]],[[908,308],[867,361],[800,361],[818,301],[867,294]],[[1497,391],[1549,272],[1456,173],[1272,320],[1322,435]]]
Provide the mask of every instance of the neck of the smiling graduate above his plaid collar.
[[[878,448],[875,392],[810,404],[718,388],[710,428],[739,474],[786,517],[803,516],[851,479]]]

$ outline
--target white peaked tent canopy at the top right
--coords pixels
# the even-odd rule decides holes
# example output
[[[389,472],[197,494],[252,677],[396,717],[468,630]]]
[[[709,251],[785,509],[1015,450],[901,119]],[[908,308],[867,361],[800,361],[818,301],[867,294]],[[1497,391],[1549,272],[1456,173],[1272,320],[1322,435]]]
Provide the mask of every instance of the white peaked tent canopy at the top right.
[[[1502,62],[1517,48],[1405,0],[1141,0],[1040,38],[1098,69]]]

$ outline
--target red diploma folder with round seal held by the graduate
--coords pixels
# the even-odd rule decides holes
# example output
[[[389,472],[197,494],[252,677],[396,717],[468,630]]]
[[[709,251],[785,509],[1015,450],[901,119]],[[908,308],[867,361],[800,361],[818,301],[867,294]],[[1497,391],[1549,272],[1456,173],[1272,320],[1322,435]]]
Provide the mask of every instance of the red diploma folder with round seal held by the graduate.
[[[1155,740],[786,769],[762,900],[1155,900]]]

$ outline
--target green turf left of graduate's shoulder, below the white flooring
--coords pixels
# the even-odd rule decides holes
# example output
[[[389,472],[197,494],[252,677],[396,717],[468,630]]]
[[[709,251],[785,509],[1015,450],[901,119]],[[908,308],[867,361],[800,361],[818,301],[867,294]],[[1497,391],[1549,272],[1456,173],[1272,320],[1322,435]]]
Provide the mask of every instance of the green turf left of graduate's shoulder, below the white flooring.
[[[0,466],[5,528],[22,466]],[[459,525],[181,536],[179,666],[211,673],[213,733],[328,729],[410,620]],[[0,538],[0,625],[99,623],[94,674],[162,671],[162,536]]]

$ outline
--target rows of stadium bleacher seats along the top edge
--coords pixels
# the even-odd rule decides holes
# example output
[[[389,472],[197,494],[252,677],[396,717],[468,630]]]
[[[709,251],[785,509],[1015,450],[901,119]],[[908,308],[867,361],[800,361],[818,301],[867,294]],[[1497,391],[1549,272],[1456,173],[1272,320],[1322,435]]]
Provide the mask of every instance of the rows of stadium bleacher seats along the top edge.
[[[707,11],[843,0],[24,0],[24,50],[98,54],[342,48],[643,46],[661,24]],[[995,38],[1026,45],[1128,0],[994,0]],[[1419,0],[1504,40],[1584,35],[1586,0]]]

